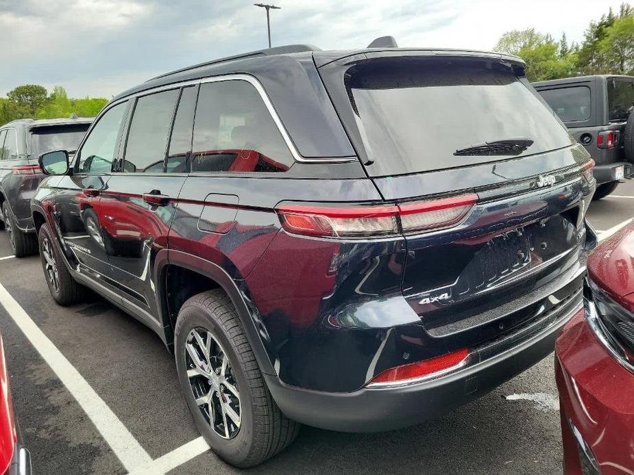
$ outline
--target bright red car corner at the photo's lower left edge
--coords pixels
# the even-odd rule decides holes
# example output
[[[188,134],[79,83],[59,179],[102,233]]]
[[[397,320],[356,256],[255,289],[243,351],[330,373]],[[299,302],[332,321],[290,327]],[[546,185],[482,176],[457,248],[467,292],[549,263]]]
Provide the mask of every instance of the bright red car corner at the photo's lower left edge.
[[[21,435],[13,413],[9,373],[0,335],[0,473],[30,475],[31,454],[22,445]]]

